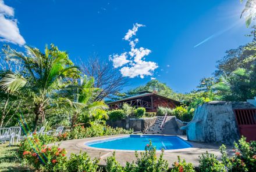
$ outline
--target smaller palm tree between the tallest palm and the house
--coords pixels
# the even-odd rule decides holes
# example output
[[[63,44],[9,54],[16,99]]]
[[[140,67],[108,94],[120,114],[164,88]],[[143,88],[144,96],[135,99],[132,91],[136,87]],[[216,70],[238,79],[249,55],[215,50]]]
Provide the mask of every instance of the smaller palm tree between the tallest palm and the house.
[[[84,78],[80,79],[80,84],[66,88],[69,93],[63,94],[63,104],[66,105],[66,109],[69,109],[71,114],[71,126],[75,126],[77,122],[83,122],[85,124],[90,119],[101,120],[107,119],[104,109],[108,109],[103,101],[94,101],[97,92],[100,90],[94,88],[94,79]],[[71,96],[69,96],[71,95]]]

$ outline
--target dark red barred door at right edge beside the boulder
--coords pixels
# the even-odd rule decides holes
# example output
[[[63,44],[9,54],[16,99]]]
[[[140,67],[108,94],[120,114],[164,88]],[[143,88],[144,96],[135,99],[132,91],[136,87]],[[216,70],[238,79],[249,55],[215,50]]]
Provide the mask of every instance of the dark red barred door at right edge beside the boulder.
[[[246,141],[256,140],[256,109],[234,109],[240,136]]]

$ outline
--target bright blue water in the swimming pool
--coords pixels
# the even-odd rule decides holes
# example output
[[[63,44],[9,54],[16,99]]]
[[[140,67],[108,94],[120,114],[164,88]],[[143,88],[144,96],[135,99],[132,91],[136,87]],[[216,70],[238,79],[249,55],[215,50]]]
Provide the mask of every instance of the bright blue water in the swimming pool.
[[[188,142],[177,136],[154,135],[130,135],[118,138],[107,138],[105,140],[88,142],[86,145],[94,148],[143,151],[145,146],[150,143],[150,140],[157,150],[191,147]]]

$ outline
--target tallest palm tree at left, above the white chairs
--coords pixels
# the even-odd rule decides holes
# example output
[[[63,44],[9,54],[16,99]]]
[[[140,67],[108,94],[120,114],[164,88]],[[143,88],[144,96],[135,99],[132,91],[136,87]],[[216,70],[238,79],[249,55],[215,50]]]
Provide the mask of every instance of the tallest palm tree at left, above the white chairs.
[[[35,114],[33,131],[37,127],[39,118],[45,120],[45,110],[51,107],[55,97],[65,85],[59,85],[60,81],[70,83],[71,78],[77,77],[77,67],[74,67],[66,52],[61,52],[58,47],[51,45],[45,52],[34,47],[25,46],[26,54],[9,49],[6,58],[20,60],[23,72],[20,74],[7,74],[0,86],[5,92],[15,92],[19,98],[24,98],[27,103],[33,105]]]

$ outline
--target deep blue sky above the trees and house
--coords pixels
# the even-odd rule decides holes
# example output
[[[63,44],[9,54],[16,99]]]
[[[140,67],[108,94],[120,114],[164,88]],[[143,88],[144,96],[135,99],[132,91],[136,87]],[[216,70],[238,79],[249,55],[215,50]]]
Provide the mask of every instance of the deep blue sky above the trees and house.
[[[151,76],[133,76],[124,90],[157,78],[176,92],[190,92],[202,77],[211,76],[216,61],[225,55],[226,50],[251,40],[244,36],[250,30],[240,19],[243,5],[239,0],[0,2],[0,46],[11,41],[20,44],[10,43],[12,47],[23,49],[26,42],[43,49],[45,44],[54,43],[59,49],[66,50],[72,60],[86,60],[93,53],[102,59],[128,53],[131,40],[123,39],[127,31],[136,23],[145,25],[138,28],[133,40],[139,39],[136,47],[151,50],[141,60],[147,62],[146,65],[148,61],[155,63],[155,68],[150,71]],[[19,32],[3,27],[1,21],[6,21],[1,20],[3,4],[5,19],[12,21],[12,25],[7,23],[7,26],[18,28]],[[5,40],[1,29],[7,34]],[[123,67],[132,71],[134,64],[118,68]]]

